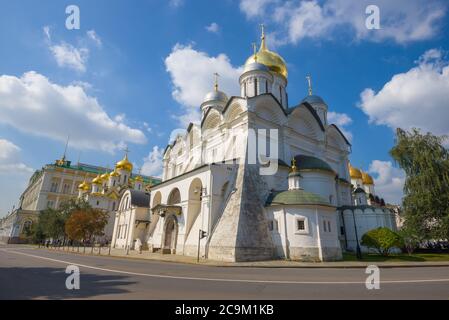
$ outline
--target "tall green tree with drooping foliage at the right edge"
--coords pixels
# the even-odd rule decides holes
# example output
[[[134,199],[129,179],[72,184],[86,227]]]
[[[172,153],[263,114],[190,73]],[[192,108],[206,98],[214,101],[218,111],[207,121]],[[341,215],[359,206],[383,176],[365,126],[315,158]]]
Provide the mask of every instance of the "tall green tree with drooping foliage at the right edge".
[[[423,239],[449,239],[449,151],[447,137],[397,129],[390,154],[405,171],[405,227]]]

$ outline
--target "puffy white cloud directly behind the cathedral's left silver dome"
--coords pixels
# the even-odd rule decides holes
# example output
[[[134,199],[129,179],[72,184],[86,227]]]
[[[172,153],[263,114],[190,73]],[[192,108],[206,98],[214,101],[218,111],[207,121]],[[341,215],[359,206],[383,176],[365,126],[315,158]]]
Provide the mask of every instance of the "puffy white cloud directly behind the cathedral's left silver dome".
[[[172,80],[173,98],[185,109],[178,117],[182,125],[199,120],[199,107],[204,96],[213,90],[213,73],[220,74],[220,90],[228,96],[239,93],[241,69],[233,67],[225,54],[211,57],[191,45],[177,44],[165,59],[165,67]]]

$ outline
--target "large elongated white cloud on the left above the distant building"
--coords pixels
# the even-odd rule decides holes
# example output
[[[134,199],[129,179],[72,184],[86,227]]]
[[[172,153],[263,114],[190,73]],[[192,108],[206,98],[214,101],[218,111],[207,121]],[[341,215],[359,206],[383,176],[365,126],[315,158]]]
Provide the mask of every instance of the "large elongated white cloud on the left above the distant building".
[[[123,115],[111,118],[83,87],[58,85],[33,71],[0,76],[0,123],[58,141],[70,135],[79,149],[112,153],[126,142],[146,142],[141,130],[127,126]]]

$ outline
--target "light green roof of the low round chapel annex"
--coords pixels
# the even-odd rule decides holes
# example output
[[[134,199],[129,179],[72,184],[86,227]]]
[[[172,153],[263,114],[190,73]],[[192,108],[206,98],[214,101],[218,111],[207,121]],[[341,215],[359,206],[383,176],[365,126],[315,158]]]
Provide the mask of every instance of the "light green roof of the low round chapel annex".
[[[331,206],[323,197],[304,191],[303,189],[288,190],[272,193],[267,200],[267,205],[323,205]]]

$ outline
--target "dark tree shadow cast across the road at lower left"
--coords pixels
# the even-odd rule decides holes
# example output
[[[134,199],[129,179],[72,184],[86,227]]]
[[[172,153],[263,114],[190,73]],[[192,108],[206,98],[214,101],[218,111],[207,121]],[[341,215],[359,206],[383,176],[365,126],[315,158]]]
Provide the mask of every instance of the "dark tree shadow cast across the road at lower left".
[[[68,290],[69,274],[61,268],[0,268],[0,299],[88,299],[96,296],[123,294],[126,286],[135,282],[125,281],[126,276],[80,274],[80,289]]]

